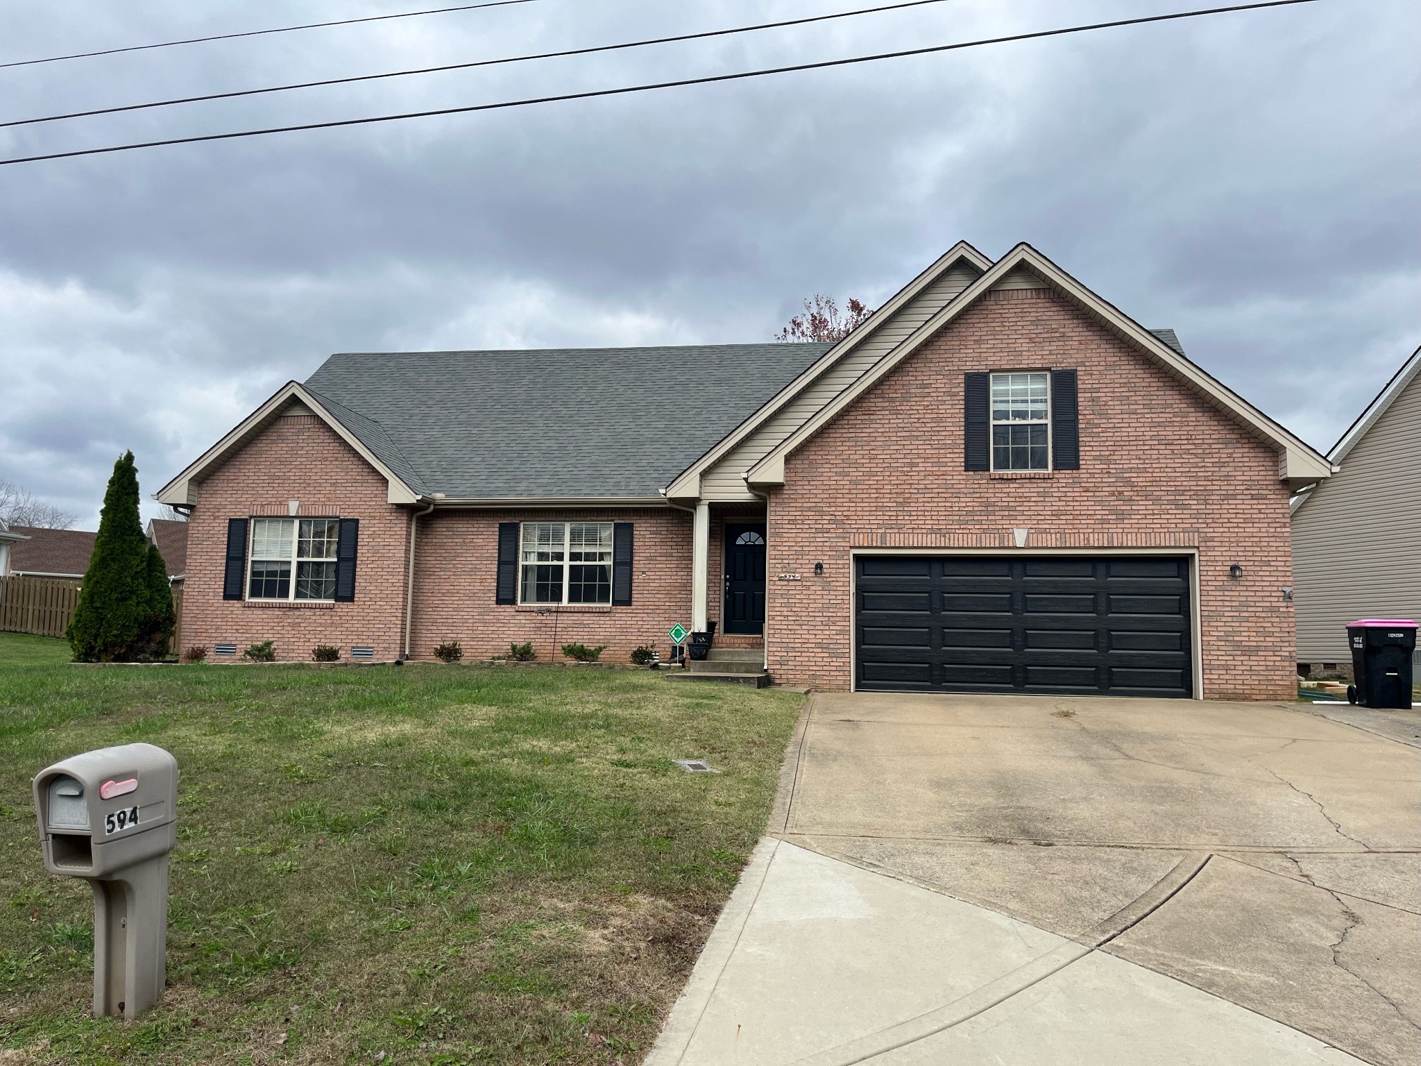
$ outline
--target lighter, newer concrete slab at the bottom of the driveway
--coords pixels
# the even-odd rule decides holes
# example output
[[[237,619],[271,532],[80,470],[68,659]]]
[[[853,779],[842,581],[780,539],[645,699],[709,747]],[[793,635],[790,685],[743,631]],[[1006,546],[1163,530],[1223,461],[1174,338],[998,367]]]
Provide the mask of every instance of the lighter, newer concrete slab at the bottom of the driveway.
[[[1357,1063],[976,904],[767,839],[647,1066]]]

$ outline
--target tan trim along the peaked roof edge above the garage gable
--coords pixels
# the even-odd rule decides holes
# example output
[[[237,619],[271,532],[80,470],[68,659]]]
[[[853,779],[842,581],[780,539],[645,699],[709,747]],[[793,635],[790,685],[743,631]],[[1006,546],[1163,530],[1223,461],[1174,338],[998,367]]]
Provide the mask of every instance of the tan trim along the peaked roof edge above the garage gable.
[[[770,449],[764,458],[746,472],[746,482],[750,485],[783,483],[784,459],[837,418],[854,399],[872,388],[899,362],[915,352],[929,337],[993,289],[1026,287],[1032,284],[1044,284],[1056,290],[1255,436],[1272,443],[1279,452],[1279,479],[1286,480],[1293,488],[1299,488],[1331,475],[1331,463],[1312,448],[1312,445],[1289,432],[1233,392],[1233,389],[1185,358],[1178,348],[1178,338],[1175,338],[1174,344],[1169,344],[1167,338],[1144,328],[1096,293],[1086,289],[1086,286],[1052,263],[1030,244],[1020,243],[993,263],[961,296],[946,303],[942,310],[914,330],[911,335],[880,360],[872,370],[858,378],[853,387],[824,404],[813,418],[804,421],[799,429]]]

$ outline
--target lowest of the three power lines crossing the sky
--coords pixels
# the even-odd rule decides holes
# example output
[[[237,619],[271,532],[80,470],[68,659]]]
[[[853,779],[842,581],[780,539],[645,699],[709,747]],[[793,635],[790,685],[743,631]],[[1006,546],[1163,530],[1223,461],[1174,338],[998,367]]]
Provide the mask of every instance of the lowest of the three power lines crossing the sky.
[[[335,126],[371,125],[374,122],[398,122],[406,118],[435,118],[438,115],[462,115],[473,111],[500,111],[506,108],[530,107],[533,104],[557,104],[568,99],[591,99],[594,97],[618,97],[630,92],[648,92],[652,90],[679,88],[684,85],[710,85],[720,81],[742,81],[746,78],[763,78],[770,74],[793,74],[806,70],[826,70],[828,67],[848,67],[858,63],[877,63],[878,60],[899,60],[909,55],[929,55],[934,53],[958,51],[961,48],[980,48],[989,44],[1009,44],[1012,41],[1030,41],[1042,37],[1063,37],[1073,33],[1087,33],[1091,30],[1111,30],[1121,26],[1142,26],[1145,23],[1167,23],[1179,18],[1198,18],[1209,14],[1228,14],[1231,11],[1256,11],[1265,7],[1292,7],[1295,4],[1312,4],[1317,0],[1265,0],[1265,3],[1235,4],[1232,7],[1208,7],[1195,11],[1174,11],[1171,14],[1152,14],[1141,18],[1120,18],[1110,23],[1090,23],[1087,26],[1067,26],[1059,30],[1037,30],[1033,33],[1019,33],[1009,37],[986,37],[976,41],[959,41],[956,44],[934,44],[925,48],[908,48],[904,51],[885,51],[874,55],[854,55],[844,60],[821,60],[818,63],[799,63],[790,67],[767,67],[763,70],[737,71],[735,74],[712,74],[703,78],[681,78],[678,81],[658,81],[644,85],[624,85],[610,90],[588,90],[584,92],[563,92],[553,97],[529,97],[524,99],[504,99],[497,104],[470,104],[458,108],[438,108],[435,111],[408,111],[398,115],[374,115],[369,118],[342,118],[331,122],[306,122],[293,126],[269,126],[266,129],[239,129],[230,134],[202,134],[198,136],[175,136],[165,141],[142,141],[128,145],[109,145],[107,148],[81,148],[71,152],[50,152],[47,155],[28,155],[16,159],[0,159],[0,166],[14,163],[36,163],[45,159],[72,159],[80,155],[104,155],[108,152],[132,152],[139,148],[165,148],[168,145],[190,145],[202,141],[232,141],[243,136],[264,136],[267,134],[294,134],[306,129],[333,129]]]

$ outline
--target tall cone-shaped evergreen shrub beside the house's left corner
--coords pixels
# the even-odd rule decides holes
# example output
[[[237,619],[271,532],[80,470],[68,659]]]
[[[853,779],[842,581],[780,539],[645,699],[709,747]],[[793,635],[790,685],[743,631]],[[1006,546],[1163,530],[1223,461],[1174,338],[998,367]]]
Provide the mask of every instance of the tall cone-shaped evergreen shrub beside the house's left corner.
[[[134,453],[114,463],[104,493],[98,537],[70,623],[70,647],[80,662],[161,658],[173,631],[173,600],[158,549],[138,517]]]

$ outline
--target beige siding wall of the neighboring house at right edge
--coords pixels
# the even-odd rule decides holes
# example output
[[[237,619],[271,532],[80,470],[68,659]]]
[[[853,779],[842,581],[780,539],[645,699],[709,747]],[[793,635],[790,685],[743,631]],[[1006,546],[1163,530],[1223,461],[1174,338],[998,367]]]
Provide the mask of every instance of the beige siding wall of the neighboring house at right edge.
[[[1350,662],[1354,618],[1421,620],[1421,375],[1292,524],[1300,662]]]

